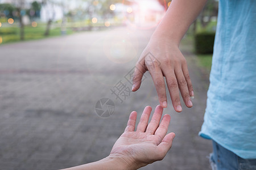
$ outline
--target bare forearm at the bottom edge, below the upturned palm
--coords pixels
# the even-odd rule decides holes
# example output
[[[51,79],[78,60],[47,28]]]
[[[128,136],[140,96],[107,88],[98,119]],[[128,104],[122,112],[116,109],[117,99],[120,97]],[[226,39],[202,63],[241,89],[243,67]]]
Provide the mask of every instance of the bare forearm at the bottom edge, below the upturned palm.
[[[126,160],[119,158],[118,156],[108,156],[104,159],[101,159],[97,162],[88,163],[84,165],[79,165],[77,167],[67,168],[63,170],[97,170],[97,169],[103,169],[103,170],[135,170],[137,169],[135,164],[130,165],[126,162]]]

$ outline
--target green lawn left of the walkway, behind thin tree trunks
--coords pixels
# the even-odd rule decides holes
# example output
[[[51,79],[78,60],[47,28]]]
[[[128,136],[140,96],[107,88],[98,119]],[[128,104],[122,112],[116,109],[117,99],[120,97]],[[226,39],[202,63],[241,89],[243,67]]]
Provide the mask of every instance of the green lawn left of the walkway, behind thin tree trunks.
[[[24,28],[24,40],[38,40],[44,39],[44,32],[46,31],[46,24],[38,25],[38,27],[26,26]],[[0,27],[0,39],[2,37],[2,44],[9,42],[20,41],[19,36],[20,29],[19,27]],[[73,33],[71,29],[67,29],[67,35]],[[51,36],[60,36],[61,29],[60,27],[52,28],[48,37]]]

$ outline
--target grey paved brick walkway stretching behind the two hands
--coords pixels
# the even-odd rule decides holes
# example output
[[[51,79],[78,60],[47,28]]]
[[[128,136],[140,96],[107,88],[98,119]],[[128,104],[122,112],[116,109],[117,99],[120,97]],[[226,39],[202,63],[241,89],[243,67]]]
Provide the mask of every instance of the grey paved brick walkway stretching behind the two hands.
[[[130,112],[140,116],[146,105],[158,105],[148,73],[141,90],[129,94],[130,70],[151,33],[118,28],[1,45],[1,169],[60,169],[107,156]],[[195,57],[185,47],[183,52],[195,87],[194,107],[164,110],[172,117],[174,144],[164,160],[141,169],[209,169],[210,141],[197,136],[208,79]],[[118,84],[126,90],[120,98],[112,94]],[[108,118],[95,111],[104,97],[115,104]]]

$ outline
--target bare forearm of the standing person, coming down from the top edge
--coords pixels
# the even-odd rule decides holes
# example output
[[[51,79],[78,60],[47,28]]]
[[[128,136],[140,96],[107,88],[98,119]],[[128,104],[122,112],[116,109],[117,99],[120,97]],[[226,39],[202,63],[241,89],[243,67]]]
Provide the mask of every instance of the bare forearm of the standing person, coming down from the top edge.
[[[206,2],[207,0],[173,0],[153,36],[165,37],[179,45]]]

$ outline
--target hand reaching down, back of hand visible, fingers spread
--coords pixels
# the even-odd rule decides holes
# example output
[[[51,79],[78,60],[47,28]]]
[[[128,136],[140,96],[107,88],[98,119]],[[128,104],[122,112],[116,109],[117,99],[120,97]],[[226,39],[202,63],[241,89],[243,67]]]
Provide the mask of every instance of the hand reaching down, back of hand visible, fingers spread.
[[[134,72],[133,91],[141,86],[142,76],[149,71],[155,84],[160,105],[167,107],[166,86],[163,76],[170,92],[172,105],[176,112],[181,112],[180,96],[183,97],[185,105],[192,107],[191,97],[194,96],[191,79],[189,78],[187,61],[181,54],[178,45],[172,44],[170,40],[152,36],[146,49],[139,58]]]

